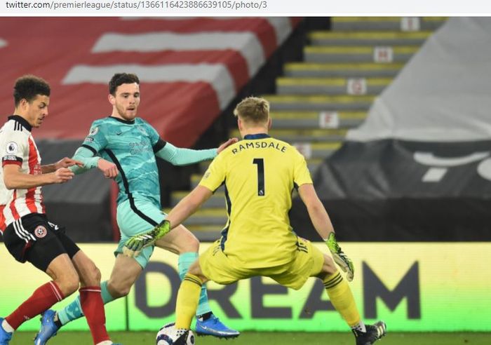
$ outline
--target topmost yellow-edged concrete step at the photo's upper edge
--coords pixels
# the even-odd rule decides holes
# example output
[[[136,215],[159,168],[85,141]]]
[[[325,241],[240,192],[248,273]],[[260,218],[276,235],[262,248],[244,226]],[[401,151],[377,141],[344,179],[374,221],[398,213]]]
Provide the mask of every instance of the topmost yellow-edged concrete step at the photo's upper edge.
[[[415,18],[417,18],[415,22]],[[333,31],[342,30],[435,30],[447,17],[332,17]],[[418,22],[418,23],[417,23]]]

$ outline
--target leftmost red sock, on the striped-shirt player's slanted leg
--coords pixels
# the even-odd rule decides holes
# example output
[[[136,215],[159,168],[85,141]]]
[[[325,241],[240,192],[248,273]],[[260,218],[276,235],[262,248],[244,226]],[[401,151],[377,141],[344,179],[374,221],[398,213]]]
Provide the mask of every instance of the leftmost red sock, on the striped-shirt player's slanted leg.
[[[43,311],[50,309],[53,304],[64,299],[60,288],[54,281],[41,285],[37,288],[24,303],[20,304],[11,315],[5,319],[14,330],[17,330],[22,323],[34,318]]]

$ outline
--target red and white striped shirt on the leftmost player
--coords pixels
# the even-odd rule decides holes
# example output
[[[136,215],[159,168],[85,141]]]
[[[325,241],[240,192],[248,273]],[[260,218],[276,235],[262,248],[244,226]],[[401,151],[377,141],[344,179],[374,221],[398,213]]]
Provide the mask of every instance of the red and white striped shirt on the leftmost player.
[[[29,215],[44,213],[41,187],[29,189],[7,189],[4,182],[3,167],[15,164],[20,171],[31,175],[41,174],[41,156],[31,134],[32,126],[18,115],[8,116],[8,121],[0,129],[0,231],[8,224]]]

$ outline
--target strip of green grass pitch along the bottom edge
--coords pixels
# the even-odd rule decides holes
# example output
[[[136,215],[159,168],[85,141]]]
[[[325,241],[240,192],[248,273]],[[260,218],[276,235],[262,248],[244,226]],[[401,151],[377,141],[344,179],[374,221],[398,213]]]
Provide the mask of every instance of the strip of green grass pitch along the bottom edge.
[[[390,332],[390,331],[389,331]],[[112,340],[123,345],[154,345],[156,332],[112,332]],[[32,344],[34,332],[15,333],[9,345]],[[49,345],[92,345],[88,332],[60,332]],[[351,333],[244,332],[230,341],[198,337],[196,345],[354,345]],[[380,345],[488,345],[491,333],[389,333]]]

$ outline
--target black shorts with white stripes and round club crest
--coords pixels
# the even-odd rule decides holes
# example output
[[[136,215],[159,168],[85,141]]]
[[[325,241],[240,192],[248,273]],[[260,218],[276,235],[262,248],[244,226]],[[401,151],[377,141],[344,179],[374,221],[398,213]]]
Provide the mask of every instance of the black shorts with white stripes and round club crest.
[[[18,262],[30,262],[46,272],[49,264],[61,254],[70,259],[80,250],[66,234],[65,228],[48,222],[46,215],[31,213],[9,224],[4,243]]]

